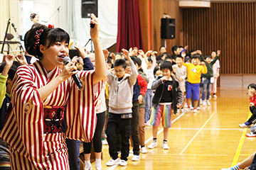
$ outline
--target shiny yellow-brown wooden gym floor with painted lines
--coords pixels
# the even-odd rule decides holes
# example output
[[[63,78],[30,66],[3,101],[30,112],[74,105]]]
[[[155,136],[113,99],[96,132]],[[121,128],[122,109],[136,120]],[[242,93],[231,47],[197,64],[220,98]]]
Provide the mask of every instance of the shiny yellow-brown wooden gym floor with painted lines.
[[[255,152],[255,137],[245,137],[250,129],[239,128],[250,115],[247,89],[221,87],[211,106],[201,106],[198,113],[177,113],[172,117],[168,144],[162,149],[163,132],[159,127],[158,146],[141,154],[139,162],[105,166],[110,160],[108,145],[103,145],[102,169],[221,169],[242,162]],[[146,147],[151,143],[151,127],[146,127]],[[95,169],[95,163],[92,164]]]

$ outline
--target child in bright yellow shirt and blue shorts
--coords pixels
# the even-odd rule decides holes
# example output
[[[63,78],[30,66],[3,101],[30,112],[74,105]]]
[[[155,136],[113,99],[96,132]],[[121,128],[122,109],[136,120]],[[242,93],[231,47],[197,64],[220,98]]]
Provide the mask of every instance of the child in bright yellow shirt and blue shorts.
[[[201,74],[207,73],[206,63],[201,62],[201,65],[198,64],[200,55],[192,55],[191,57],[191,64],[183,63],[184,66],[187,67],[188,72],[188,79],[186,81],[186,98],[188,103],[188,109],[191,106],[191,96],[193,94],[193,101],[194,101],[194,110],[193,112],[196,113],[198,106],[198,100],[200,98],[200,82],[201,82]]]

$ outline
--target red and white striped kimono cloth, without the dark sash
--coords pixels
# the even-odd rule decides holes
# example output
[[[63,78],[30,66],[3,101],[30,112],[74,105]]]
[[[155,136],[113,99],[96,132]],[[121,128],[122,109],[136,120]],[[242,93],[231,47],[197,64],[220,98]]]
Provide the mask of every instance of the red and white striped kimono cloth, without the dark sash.
[[[93,85],[93,71],[78,72],[84,84],[81,91],[70,77],[41,101],[37,89],[60,72],[56,67],[48,79],[41,62],[18,68],[11,90],[13,108],[0,132],[0,137],[11,146],[11,169],[69,169],[65,137],[85,142],[92,140],[96,126],[95,105],[102,81]],[[93,86],[97,86],[98,91],[93,91]],[[31,107],[26,107],[28,103]],[[68,128],[65,134],[44,134],[44,106],[66,106]]]

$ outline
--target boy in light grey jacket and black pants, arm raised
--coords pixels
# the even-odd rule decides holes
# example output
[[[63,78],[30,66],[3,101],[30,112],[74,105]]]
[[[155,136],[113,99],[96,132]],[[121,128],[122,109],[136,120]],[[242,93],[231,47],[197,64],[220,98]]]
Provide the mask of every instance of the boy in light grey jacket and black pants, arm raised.
[[[110,85],[110,113],[107,120],[107,142],[109,145],[110,157],[107,166],[112,166],[119,162],[116,147],[116,130],[119,129],[122,138],[121,162],[120,166],[127,166],[129,156],[129,137],[131,135],[132,120],[132,96],[133,86],[137,81],[137,69],[129,52],[122,49],[124,57],[129,62],[131,74],[125,74],[127,64],[125,60],[114,61],[114,74],[107,72],[107,83]]]

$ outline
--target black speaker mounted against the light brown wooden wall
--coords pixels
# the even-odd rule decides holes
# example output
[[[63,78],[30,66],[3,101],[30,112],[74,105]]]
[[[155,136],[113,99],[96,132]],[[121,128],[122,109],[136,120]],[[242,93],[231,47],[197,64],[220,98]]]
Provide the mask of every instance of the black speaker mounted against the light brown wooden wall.
[[[161,39],[175,38],[175,19],[161,18]]]

